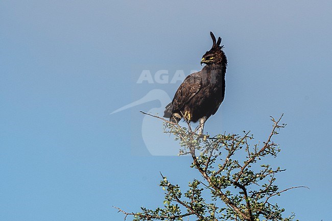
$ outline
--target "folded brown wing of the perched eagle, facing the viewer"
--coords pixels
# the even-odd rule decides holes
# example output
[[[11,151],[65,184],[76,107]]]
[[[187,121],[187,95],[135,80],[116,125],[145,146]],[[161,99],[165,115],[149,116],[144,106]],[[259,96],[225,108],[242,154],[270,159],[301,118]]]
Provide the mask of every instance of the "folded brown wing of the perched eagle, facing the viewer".
[[[182,108],[193,99],[202,88],[202,77],[199,72],[187,76],[174,95],[172,101],[173,113],[181,111]]]

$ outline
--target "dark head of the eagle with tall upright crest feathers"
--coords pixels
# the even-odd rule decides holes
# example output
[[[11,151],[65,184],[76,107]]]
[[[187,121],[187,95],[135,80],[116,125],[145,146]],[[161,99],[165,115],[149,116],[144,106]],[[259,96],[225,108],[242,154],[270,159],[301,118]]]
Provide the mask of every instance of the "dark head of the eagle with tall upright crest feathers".
[[[204,64],[224,64],[227,65],[227,58],[225,53],[223,52],[224,45],[220,46],[221,37],[218,38],[216,43],[216,37],[214,33],[210,32],[213,45],[210,51],[207,51],[201,60],[201,65]]]

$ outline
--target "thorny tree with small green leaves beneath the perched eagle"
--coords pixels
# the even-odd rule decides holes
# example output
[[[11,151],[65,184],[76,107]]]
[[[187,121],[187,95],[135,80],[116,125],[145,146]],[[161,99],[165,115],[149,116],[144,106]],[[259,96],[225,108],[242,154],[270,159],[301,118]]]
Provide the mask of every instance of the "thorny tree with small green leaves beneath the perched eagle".
[[[160,186],[165,191],[164,206],[155,210],[141,207],[141,212],[126,212],[115,207],[125,214],[125,220],[128,215],[133,216],[134,221],[294,219],[294,213],[283,217],[284,209],[270,200],[284,191],[304,186],[279,190],[275,185],[275,175],[285,169],[258,164],[263,162],[263,158],[276,157],[280,152],[272,137],[286,126],[280,124],[282,115],[278,120],[271,117],[272,132],[262,144],[251,144],[253,136],[245,131],[242,136],[219,134],[213,138],[201,138],[196,134],[197,129],[192,131],[189,124],[187,128],[181,127],[161,117],[151,116],[165,121],[165,132],[174,134],[180,141],[179,155],[191,155],[191,167],[197,169],[202,178],[189,182],[189,188],[183,191],[179,185],[172,184],[161,175]],[[246,156],[243,160],[234,157],[241,151]]]

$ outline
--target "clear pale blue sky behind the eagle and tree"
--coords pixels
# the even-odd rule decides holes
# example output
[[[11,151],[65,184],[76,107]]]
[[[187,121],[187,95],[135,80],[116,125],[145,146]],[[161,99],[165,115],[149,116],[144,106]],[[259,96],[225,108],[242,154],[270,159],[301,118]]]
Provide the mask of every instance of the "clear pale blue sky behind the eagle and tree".
[[[186,185],[190,159],[154,156],[144,116],[162,102],[114,110],[180,82],[137,84],[143,69],[199,70],[209,32],[223,38],[226,96],[210,134],[288,124],[274,164],[277,198],[300,220],[329,220],[332,197],[330,1],[2,1],[0,220],[122,220],[162,204],[159,171]],[[159,141],[161,125],[151,123]],[[155,129],[154,129],[155,128]],[[152,131],[153,131],[152,130]]]

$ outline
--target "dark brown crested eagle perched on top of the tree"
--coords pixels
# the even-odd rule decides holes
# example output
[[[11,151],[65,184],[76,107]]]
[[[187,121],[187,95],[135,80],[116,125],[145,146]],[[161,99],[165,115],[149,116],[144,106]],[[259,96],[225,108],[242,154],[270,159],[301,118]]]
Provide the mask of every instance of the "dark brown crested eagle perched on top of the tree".
[[[224,45],[220,46],[221,37],[216,42],[212,32],[210,36],[212,48],[201,60],[201,65],[206,65],[184,79],[163,115],[172,122],[179,122],[182,118],[187,122],[199,121],[199,135],[203,135],[205,121],[217,112],[225,97],[227,57]]]

